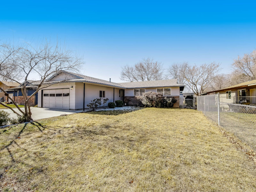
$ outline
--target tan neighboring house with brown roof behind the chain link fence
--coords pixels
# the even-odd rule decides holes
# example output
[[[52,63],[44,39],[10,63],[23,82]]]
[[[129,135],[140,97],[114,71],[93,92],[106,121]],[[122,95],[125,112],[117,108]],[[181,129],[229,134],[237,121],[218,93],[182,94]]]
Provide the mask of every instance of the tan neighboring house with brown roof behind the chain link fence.
[[[217,94],[218,92],[220,93],[220,102],[239,103],[246,100],[256,103],[256,79],[205,94]]]

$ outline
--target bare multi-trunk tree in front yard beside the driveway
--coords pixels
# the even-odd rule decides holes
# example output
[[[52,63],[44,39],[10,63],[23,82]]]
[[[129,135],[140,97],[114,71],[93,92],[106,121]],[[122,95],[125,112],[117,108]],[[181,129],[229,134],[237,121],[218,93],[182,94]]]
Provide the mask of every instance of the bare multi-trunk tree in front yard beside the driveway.
[[[46,82],[46,80],[60,71],[77,71],[83,64],[83,58],[77,56],[73,51],[65,49],[65,46],[60,46],[58,43],[53,45],[47,40],[37,44],[36,47],[28,43],[16,46],[4,43],[0,46],[0,53],[0,77],[20,84],[21,93],[25,101],[25,110],[21,110],[3,88],[0,87],[0,90],[13,102],[23,116],[31,120],[30,99],[42,88],[57,83]],[[38,86],[35,92],[28,96],[27,81],[31,74],[36,74],[39,81],[37,81]],[[0,104],[10,108],[2,102]],[[20,116],[12,108],[10,109]]]

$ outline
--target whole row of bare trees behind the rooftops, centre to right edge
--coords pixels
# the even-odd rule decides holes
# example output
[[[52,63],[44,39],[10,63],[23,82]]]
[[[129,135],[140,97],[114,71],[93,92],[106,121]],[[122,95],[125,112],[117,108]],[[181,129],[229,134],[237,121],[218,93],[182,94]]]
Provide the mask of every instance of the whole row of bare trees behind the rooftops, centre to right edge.
[[[190,65],[188,62],[173,63],[168,69],[151,58],[142,59],[135,65],[125,65],[121,70],[121,80],[152,81],[177,79],[186,85],[185,92],[201,95],[204,92],[223,89],[228,86],[256,79],[256,50],[238,56],[230,66],[230,74],[220,73],[220,64],[216,62]]]

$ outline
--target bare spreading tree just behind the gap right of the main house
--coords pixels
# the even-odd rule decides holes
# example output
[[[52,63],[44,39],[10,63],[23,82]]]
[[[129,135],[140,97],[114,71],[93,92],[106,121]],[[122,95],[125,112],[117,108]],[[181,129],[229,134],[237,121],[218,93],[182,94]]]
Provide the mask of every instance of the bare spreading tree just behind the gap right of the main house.
[[[219,71],[219,63],[212,62],[210,64],[203,64],[200,66],[190,66],[187,62],[180,64],[173,64],[169,68],[170,70],[175,70],[175,72],[170,73],[173,76],[177,74],[180,82],[183,82],[192,90],[197,96],[201,95],[210,86],[212,80]]]

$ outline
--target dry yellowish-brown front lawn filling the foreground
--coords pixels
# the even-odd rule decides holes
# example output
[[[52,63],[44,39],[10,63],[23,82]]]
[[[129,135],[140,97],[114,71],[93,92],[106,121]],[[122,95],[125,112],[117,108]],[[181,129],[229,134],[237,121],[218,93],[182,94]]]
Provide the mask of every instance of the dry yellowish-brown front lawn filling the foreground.
[[[73,114],[0,130],[0,190],[256,190],[253,161],[201,112],[118,114]]]

